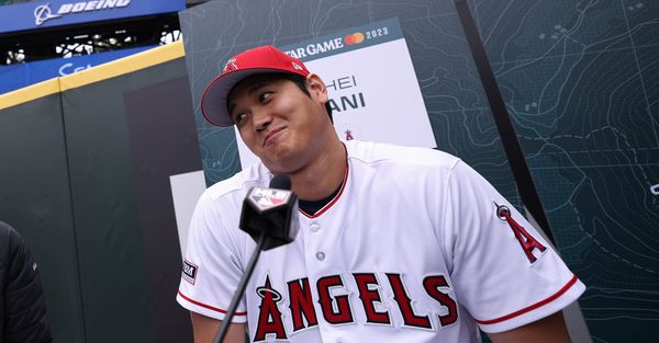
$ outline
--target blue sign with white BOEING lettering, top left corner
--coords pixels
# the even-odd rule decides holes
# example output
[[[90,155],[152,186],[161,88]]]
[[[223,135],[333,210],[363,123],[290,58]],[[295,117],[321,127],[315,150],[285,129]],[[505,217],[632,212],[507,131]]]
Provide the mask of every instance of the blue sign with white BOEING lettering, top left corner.
[[[0,33],[178,12],[185,0],[52,0],[0,5]]]

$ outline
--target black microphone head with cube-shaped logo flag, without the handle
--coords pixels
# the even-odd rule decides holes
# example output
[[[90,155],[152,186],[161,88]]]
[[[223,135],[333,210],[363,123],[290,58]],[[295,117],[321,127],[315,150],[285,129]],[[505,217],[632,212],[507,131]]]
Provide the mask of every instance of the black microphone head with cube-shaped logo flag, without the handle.
[[[292,242],[299,224],[298,195],[291,192],[291,179],[275,175],[269,187],[253,187],[243,202],[239,227],[256,242],[265,233],[263,250]]]

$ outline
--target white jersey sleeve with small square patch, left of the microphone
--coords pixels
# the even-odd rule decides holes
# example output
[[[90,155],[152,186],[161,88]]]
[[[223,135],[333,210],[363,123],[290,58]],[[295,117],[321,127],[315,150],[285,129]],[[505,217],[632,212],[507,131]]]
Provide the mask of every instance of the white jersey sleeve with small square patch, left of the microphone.
[[[188,236],[177,301],[186,309],[223,320],[243,276],[238,216],[209,196],[199,199]],[[232,322],[246,322],[245,300]]]

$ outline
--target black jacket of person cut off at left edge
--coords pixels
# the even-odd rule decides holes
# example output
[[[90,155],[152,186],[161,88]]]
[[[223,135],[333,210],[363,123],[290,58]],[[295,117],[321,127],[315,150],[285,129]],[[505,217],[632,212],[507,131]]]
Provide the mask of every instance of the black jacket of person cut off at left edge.
[[[0,342],[53,342],[36,263],[23,238],[0,221]]]

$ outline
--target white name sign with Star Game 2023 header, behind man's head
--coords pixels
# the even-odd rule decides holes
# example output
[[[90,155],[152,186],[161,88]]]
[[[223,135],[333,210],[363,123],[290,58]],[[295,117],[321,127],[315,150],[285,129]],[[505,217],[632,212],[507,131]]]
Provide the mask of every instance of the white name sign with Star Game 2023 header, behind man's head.
[[[398,20],[279,48],[300,58],[325,81],[342,140],[436,147]],[[236,136],[243,168],[257,163],[237,130]]]

